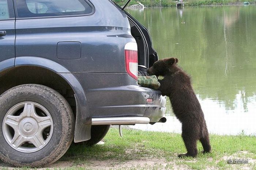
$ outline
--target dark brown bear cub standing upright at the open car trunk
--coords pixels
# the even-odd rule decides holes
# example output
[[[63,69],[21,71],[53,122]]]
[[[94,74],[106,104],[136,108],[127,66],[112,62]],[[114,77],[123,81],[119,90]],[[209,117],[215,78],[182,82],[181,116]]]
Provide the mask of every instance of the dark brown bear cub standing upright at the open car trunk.
[[[203,145],[203,153],[211,151],[204,113],[193,91],[190,77],[176,64],[177,58],[158,60],[148,68],[148,75],[164,76],[159,80],[162,95],[170,98],[173,112],[182,123],[182,138],[187,153],[178,157],[196,157],[197,140]]]

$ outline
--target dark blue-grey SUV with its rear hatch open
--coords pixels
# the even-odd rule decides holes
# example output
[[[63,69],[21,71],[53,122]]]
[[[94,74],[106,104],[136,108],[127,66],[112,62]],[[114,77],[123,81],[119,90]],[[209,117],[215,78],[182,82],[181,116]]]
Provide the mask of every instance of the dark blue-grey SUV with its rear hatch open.
[[[12,166],[164,120],[166,97],[137,81],[158,60],[150,34],[112,0],[0,0],[0,49],[0,158]]]

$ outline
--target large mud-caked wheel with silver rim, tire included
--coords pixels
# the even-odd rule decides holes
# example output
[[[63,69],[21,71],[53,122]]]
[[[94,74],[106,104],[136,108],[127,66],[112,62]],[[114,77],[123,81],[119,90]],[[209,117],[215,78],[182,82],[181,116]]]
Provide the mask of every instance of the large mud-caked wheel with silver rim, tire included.
[[[24,84],[0,96],[0,129],[2,161],[15,167],[42,167],[68,150],[74,114],[57,91]]]

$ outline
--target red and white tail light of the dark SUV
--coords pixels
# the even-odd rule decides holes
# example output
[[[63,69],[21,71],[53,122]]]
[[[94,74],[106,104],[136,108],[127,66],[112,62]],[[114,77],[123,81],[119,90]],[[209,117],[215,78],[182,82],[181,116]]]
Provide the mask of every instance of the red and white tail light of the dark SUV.
[[[125,69],[135,80],[138,79],[138,50],[136,42],[127,43],[124,47]]]

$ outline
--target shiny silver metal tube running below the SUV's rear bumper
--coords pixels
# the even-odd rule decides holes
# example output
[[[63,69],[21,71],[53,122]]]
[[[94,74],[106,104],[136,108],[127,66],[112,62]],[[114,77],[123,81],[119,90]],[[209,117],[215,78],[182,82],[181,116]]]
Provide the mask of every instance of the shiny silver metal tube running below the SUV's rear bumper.
[[[91,125],[148,124],[149,122],[150,119],[147,117],[91,118]]]

